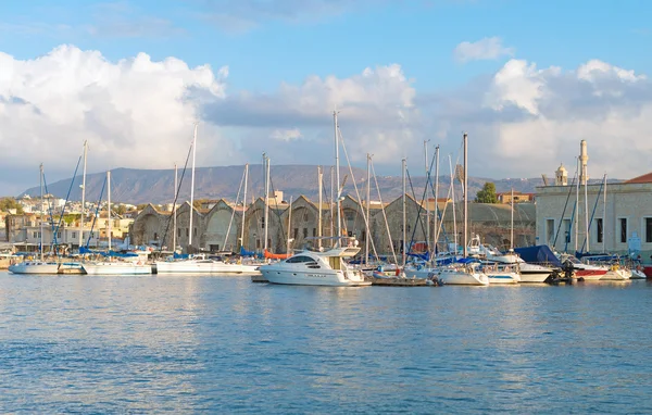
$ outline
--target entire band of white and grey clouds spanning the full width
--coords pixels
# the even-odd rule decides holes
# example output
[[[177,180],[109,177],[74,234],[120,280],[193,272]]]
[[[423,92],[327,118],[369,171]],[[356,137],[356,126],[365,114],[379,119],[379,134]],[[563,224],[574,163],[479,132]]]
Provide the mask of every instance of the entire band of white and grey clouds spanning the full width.
[[[4,168],[21,172],[42,161],[70,176],[85,139],[91,172],[170,168],[184,162],[198,120],[200,165],[255,162],[262,152],[275,165],[327,165],[334,109],[351,161],[364,165],[373,153],[380,174],[400,174],[406,156],[422,175],[426,139],[441,144],[447,172],[464,130],[472,176],[551,174],[574,165],[586,139],[593,177],[628,178],[647,173],[652,151],[652,83],[599,60],[568,70],[512,59],[454,90],[421,93],[398,64],[308,76],[267,93],[227,93],[226,67],[146,54],[109,62],[71,46],[27,61],[0,53],[0,151]]]

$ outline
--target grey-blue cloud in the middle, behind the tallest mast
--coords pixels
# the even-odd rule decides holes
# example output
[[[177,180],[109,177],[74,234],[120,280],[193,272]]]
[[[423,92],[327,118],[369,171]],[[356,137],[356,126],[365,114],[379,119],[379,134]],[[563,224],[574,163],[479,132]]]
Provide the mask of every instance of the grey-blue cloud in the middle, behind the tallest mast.
[[[403,147],[413,143],[412,129],[418,123],[416,91],[400,65],[367,67],[348,78],[309,76],[301,85],[281,84],[272,95],[240,92],[204,106],[204,117],[228,127],[269,130],[243,140],[246,149],[256,153],[267,146],[265,137],[279,137],[280,130],[301,127],[311,152],[322,154],[315,163],[330,160],[334,134],[333,112],[339,112],[340,126],[352,160],[364,160],[374,149],[378,162],[394,160]],[[302,143],[302,146],[308,146]],[[275,160],[305,163],[302,152],[286,148],[268,149]]]

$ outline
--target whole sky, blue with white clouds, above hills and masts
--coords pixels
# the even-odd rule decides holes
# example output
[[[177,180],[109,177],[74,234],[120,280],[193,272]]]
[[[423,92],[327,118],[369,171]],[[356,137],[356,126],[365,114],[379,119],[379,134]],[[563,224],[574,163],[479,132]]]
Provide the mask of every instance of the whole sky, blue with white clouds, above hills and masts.
[[[487,178],[651,169],[652,2],[0,2],[0,194],[88,172],[462,163]],[[343,150],[343,149],[342,149]]]

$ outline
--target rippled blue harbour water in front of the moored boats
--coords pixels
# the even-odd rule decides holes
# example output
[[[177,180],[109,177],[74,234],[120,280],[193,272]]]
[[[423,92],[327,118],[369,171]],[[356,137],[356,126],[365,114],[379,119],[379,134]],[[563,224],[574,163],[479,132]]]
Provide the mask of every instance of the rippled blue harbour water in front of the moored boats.
[[[0,274],[0,412],[651,413],[652,285]]]

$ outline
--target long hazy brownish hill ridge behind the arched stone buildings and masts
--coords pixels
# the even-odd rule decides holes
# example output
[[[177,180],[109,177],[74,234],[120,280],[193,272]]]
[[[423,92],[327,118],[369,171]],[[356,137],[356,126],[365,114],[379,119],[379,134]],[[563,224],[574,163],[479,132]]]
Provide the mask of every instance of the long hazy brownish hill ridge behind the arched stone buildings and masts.
[[[355,185],[362,198],[366,194],[366,171],[352,168],[355,176]],[[220,167],[199,167],[195,174],[195,199],[227,199],[235,200],[242,181],[244,166],[220,166]],[[183,186],[179,192],[178,202],[190,199],[190,171],[184,174],[178,172],[179,180],[183,176]],[[104,185],[106,174],[95,173],[86,176],[86,200],[97,201]],[[278,165],[271,167],[271,190],[281,190],[284,199],[294,199],[303,194],[312,200],[317,200],[317,166],[313,165]],[[349,168],[340,168],[340,180],[344,183],[344,193],[355,198],[353,180],[350,177]],[[399,176],[377,176],[378,188],[383,201],[391,201],[401,196],[402,179]],[[514,188],[515,191],[534,192],[535,187],[542,186],[541,178],[525,179],[500,179],[469,177],[468,188],[471,198],[475,198],[478,190],[485,183],[493,181],[498,192],[509,191]],[[593,181],[593,180],[591,180]],[[611,181],[611,180],[610,180]],[[424,176],[411,177],[408,180],[408,193],[414,192],[417,200],[422,199],[426,178]],[[82,200],[82,176],[75,178],[71,191],[71,200]],[[249,181],[247,188],[247,199],[259,198],[264,194],[263,169],[260,164],[250,165]],[[48,192],[58,198],[65,198],[71,187],[71,179],[60,180],[48,185]],[[450,187],[450,177],[439,178],[439,197],[448,194]],[[123,203],[170,203],[174,199],[174,171],[173,169],[136,169],[136,168],[115,168],[111,171],[111,200],[112,202]],[[378,200],[375,180],[372,178],[372,199]],[[32,197],[39,194],[39,188],[33,187],[25,190],[22,194]],[[105,191],[102,200],[105,200]],[[330,197],[330,167],[324,167],[324,200]],[[455,198],[461,199],[460,186],[455,188]],[[240,194],[240,199],[242,194]]]

